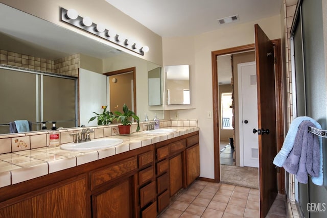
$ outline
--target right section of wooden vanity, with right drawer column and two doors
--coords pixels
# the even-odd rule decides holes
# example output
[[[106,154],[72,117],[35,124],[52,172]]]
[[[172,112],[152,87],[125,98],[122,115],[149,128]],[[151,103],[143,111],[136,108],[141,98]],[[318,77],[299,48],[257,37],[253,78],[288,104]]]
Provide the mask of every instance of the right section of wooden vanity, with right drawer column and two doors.
[[[170,197],[200,175],[199,133],[193,132],[154,144],[158,213]]]

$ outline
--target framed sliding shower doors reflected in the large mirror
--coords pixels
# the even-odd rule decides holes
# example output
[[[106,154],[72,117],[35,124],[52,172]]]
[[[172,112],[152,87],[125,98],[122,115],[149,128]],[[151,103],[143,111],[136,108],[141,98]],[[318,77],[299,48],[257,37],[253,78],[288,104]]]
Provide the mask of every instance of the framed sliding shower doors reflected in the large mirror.
[[[48,130],[52,121],[57,128],[77,124],[77,78],[1,66],[0,87],[0,134],[14,133],[15,120],[28,120],[32,130],[41,130],[41,122]]]

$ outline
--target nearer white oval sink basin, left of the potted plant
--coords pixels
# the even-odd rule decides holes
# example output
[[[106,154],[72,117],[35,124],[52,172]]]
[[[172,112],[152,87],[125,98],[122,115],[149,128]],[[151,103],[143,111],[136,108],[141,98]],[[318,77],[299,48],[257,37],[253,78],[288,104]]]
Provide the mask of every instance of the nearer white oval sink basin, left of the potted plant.
[[[87,150],[97,150],[105,149],[112,146],[118,146],[118,144],[123,143],[123,139],[120,138],[103,138],[103,139],[94,139],[91,141],[85,141],[80,143],[66,143],[60,146],[63,150],[70,151],[87,151]]]

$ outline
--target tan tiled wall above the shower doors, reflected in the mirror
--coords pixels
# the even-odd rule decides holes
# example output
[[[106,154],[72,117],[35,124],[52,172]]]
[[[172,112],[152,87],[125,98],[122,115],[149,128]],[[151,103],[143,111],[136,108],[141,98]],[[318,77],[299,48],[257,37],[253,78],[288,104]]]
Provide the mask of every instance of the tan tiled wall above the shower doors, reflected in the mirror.
[[[80,65],[79,57],[79,54],[75,54],[54,61],[6,50],[0,50],[0,64],[46,72],[55,72],[57,74],[73,77],[78,77],[78,68]]]

